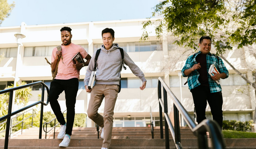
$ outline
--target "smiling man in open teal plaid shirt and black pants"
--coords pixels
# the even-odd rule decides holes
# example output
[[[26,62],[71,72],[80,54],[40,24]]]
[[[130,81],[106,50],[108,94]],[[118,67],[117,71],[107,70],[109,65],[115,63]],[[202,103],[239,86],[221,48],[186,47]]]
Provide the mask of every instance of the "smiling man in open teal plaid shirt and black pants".
[[[189,90],[192,93],[197,122],[200,123],[205,117],[207,101],[211,108],[213,120],[222,128],[222,93],[221,85],[215,81],[220,78],[226,79],[229,71],[225,67],[221,58],[217,58],[210,53],[212,39],[209,36],[202,36],[199,40],[200,51],[187,58],[186,64],[181,70],[183,77],[188,77]],[[210,76],[208,70],[214,64],[219,74]]]

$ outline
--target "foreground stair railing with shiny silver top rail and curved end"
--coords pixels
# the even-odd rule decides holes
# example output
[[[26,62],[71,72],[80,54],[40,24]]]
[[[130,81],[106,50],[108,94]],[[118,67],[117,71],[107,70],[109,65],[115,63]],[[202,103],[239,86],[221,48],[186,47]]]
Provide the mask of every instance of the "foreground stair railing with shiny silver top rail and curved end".
[[[162,100],[162,91],[161,85],[163,85],[163,100]],[[173,110],[174,110],[174,126],[168,115],[168,103],[167,103],[167,93],[173,101]],[[209,149],[207,144],[206,132],[208,131],[212,141],[213,149],[224,149],[224,141],[221,135],[221,129],[214,120],[203,120],[203,122],[196,125],[194,120],[189,116],[189,113],[181,105],[177,97],[172,93],[170,88],[166,85],[162,78],[158,78],[158,102],[159,102],[159,115],[160,115],[160,135],[163,138],[163,118],[162,118],[162,108],[164,109],[165,115],[165,146],[166,149],[169,149],[169,129],[171,131],[172,138],[175,142],[177,149],[182,149],[181,139],[180,139],[180,120],[179,112],[183,116],[187,125],[198,138],[198,148],[199,149]]]

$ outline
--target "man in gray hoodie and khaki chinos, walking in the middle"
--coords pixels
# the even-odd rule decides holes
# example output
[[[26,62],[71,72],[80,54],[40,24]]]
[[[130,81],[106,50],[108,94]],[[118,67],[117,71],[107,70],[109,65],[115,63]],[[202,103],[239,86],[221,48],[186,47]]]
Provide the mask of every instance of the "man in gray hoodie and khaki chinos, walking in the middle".
[[[87,109],[88,117],[102,128],[101,138],[104,140],[101,149],[108,149],[110,146],[113,129],[114,106],[120,85],[119,81],[122,67],[122,56],[120,50],[118,49],[118,44],[113,44],[115,39],[114,30],[106,28],[102,30],[101,35],[103,45],[101,46],[101,52],[99,53],[97,60],[95,85],[93,89],[88,89],[90,74],[91,71],[94,71],[96,52],[93,53],[91,61],[88,65],[84,78],[84,85],[85,90],[88,93],[91,92],[91,98]],[[144,90],[146,87],[146,79],[143,72],[125,51],[123,51],[123,54],[123,63],[128,65],[133,74],[141,79],[142,86],[140,87],[140,90]],[[104,114],[101,116],[98,113],[98,109],[99,106],[101,106],[104,97]]]

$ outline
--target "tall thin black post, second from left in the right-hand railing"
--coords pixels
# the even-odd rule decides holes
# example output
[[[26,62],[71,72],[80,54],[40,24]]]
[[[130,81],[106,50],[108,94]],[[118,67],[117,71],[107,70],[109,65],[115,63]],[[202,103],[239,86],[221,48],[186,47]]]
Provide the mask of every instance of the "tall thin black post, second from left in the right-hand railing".
[[[167,91],[165,90],[165,88],[163,88],[163,101],[164,101],[165,114],[168,115]],[[170,144],[169,144],[169,126],[168,126],[168,122],[166,120],[166,117],[165,117],[165,148],[166,149],[170,148]]]

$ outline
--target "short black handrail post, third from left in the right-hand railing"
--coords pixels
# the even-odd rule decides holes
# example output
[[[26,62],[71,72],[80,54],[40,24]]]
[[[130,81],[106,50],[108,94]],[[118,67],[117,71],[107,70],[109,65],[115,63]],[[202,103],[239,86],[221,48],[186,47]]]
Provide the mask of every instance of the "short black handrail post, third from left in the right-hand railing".
[[[180,119],[179,119],[179,111],[175,104],[173,104],[174,109],[174,132],[175,132],[175,143],[180,143]]]

